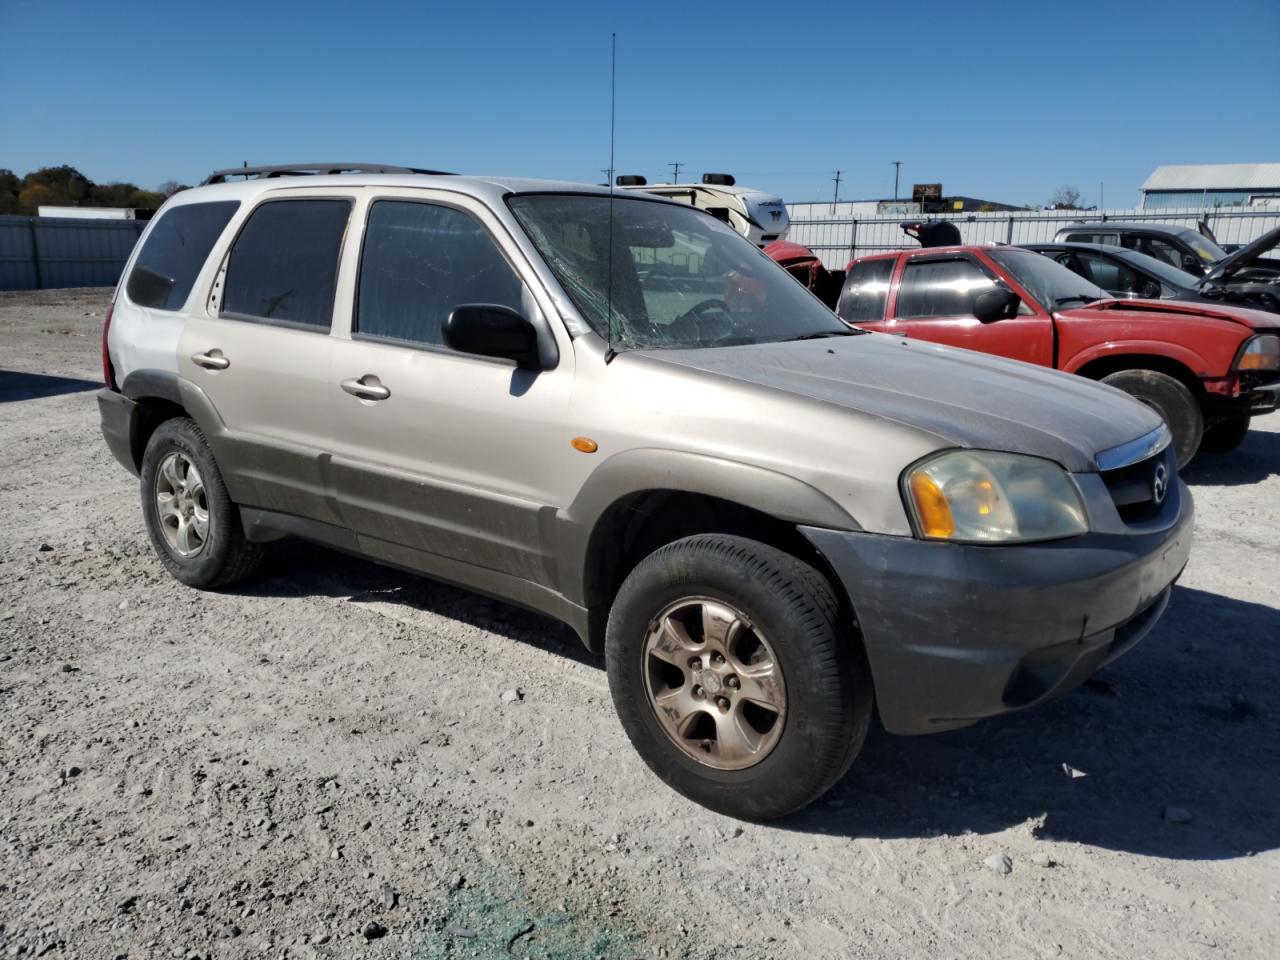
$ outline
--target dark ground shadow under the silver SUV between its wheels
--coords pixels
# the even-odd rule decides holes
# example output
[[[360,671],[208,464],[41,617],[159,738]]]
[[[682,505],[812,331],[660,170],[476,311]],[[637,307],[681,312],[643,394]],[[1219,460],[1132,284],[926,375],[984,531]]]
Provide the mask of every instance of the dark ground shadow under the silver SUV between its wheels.
[[[604,667],[604,660],[589,653],[577,634],[549,617],[303,540],[273,543],[262,575],[232,590],[243,596],[347,596],[357,604],[402,604],[579,663]]]

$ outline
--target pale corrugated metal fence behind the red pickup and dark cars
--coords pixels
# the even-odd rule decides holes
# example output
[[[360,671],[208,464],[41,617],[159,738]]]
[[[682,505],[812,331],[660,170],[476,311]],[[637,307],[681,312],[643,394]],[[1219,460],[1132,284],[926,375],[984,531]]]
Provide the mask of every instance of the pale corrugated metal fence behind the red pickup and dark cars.
[[[1060,227],[1083,220],[1140,220],[1196,228],[1208,223],[1219,243],[1248,243],[1280,227],[1280,210],[1028,210],[993,214],[933,214],[906,216],[850,216],[851,205],[788,204],[791,229],[787,239],[803,243],[822,257],[828,269],[844,269],[855,256],[891,250],[918,250],[899,224],[910,219],[951,220],[965,243],[1039,243],[1053,239]],[[845,207],[845,210],[841,210]]]

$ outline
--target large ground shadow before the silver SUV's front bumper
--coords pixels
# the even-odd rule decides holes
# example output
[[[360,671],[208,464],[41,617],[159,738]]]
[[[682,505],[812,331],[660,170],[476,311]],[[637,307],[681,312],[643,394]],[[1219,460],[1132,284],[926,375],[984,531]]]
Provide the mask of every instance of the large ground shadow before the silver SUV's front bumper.
[[[1272,850],[1277,685],[1280,611],[1175,588],[1156,631],[1082,690],[950,733],[873,730],[844,781],[778,826],[888,838],[1025,823],[1169,859]],[[1170,806],[1193,822],[1169,822]]]

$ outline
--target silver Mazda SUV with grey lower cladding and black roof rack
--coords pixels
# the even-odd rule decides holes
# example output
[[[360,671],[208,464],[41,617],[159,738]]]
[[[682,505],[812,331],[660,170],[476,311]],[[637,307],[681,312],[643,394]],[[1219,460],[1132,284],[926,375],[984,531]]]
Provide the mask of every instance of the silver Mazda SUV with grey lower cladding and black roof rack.
[[[234,173],[151,221],[104,330],[161,563],[215,589],[301,536],[557,617],[710,808],[809,803],[873,704],[924,733],[1073,689],[1187,562],[1155,412],[850,329],[686,204]]]

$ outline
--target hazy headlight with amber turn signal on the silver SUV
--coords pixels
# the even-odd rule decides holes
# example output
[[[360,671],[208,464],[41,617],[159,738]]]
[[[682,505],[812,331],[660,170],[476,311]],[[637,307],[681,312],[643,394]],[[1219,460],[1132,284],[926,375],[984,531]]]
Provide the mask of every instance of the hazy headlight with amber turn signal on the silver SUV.
[[[902,489],[915,532],[928,540],[1053,540],[1089,529],[1075,483],[1039,457],[947,451],[910,467]]]

